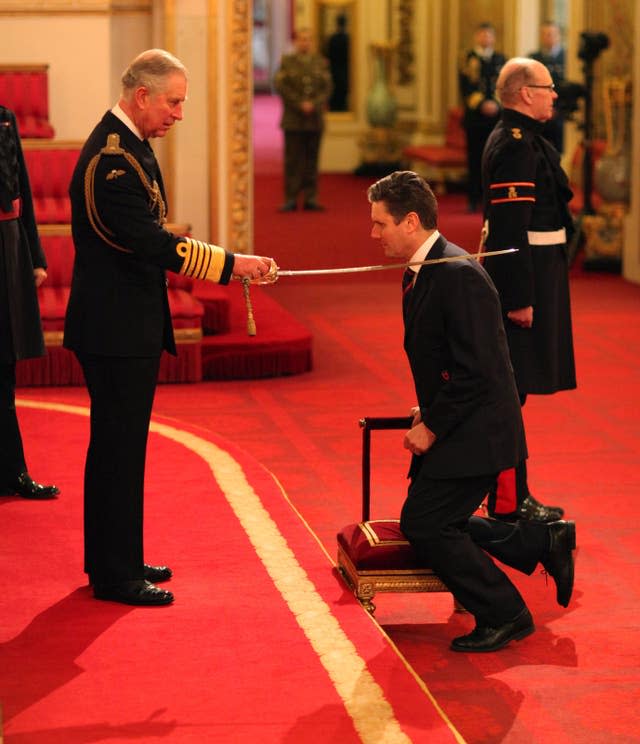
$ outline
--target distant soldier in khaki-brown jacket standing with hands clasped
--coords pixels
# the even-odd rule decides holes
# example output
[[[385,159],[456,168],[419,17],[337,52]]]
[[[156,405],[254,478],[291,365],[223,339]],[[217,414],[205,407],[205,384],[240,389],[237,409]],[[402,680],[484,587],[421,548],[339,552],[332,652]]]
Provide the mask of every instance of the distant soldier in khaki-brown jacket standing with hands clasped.
[[[311,32],[300,29],[295,52],[282,57],[274,79],[282,98],[284,131],[284,204],[281,212],[297,208],[322,210],[318,204],[318,157],[324,129],[324,112],[331,95],[331,73],[327,60],[313,54]]]

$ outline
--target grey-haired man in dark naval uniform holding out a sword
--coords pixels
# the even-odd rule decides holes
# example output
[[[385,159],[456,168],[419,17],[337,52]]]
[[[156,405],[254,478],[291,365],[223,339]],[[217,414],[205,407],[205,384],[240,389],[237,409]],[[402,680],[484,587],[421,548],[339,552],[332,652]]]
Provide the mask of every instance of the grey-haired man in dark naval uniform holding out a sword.
[[[182,119],[187,73],[168,52],[139,55],[120,101],[89,135],[70,187],[76,255],[64,345],[91,398],[85,464],[85,571],[95,597],[163,605],[166,566],[143,562],[147,437],[160,355],[176,353],[165,270],[226,284],[270,259],[228,253],[163,227],[165,193],[149,137]],[[178,467],[178,464],[176,464]]]

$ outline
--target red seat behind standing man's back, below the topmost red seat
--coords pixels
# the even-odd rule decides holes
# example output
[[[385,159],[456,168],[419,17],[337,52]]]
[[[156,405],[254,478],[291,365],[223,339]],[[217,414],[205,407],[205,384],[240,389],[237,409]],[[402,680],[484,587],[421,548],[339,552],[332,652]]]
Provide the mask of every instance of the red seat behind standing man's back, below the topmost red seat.
[[[80,155],[77,142],[23,142],[33,208],[39,225],[71,222],[69,184]]]

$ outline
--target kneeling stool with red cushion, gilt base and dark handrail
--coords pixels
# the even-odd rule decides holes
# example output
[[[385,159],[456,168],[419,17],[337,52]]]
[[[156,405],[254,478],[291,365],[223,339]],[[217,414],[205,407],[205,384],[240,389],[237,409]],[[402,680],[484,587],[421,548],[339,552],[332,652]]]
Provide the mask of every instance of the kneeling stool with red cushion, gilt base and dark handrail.
[[[362,428],[362,521],[338,533],[338,570],[364,608],[373,614],[378,592],[446,592],[447,587],[420,565],[399,519],[369,519],[371,506],[371,431],[409,429],[411,417],[360,419]],[[460,607],[456,604],[456,609]]]

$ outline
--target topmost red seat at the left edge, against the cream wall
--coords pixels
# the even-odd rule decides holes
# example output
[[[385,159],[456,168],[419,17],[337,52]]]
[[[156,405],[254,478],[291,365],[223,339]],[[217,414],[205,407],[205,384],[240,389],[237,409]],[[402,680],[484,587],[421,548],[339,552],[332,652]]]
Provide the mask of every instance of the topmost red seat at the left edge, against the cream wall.
[[[20,138],[50,139],[49,65],[0,65],[0,102],[16,115]]]

